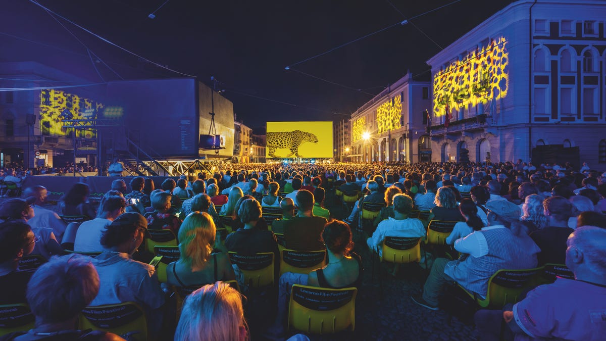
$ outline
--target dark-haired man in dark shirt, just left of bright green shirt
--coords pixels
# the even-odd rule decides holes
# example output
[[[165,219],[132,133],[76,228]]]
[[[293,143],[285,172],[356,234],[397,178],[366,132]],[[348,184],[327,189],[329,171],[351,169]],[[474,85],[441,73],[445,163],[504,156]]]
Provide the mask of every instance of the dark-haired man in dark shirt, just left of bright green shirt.
[[[298,203],[298,204],[297,204]],[[313,215],[314,197],[310,191],[298,191],[295,206],[297,216],[284,225],[284,240],[287,249],[297,251],[317,251],[324,248],[321,241],[326,218]]]

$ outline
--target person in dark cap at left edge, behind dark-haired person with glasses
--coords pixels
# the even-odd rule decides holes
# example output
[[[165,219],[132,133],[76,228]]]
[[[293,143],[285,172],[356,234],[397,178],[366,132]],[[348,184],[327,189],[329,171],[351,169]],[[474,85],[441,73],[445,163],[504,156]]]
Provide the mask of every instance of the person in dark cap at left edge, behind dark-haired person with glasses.
[[[0,219],[3,221],[21,220],[25,223],[35,217],[33,203],[36,198],[28,197],[27,199],[11,198],[2,203],[0,206]],[[28,224],[29,225],[29,224]],[[31,226],[34,235],[36,236],[35,248],[32,254],[41,255],[49,259],[52,255],[62,254],[63,248],[59,245],[52,229]]]

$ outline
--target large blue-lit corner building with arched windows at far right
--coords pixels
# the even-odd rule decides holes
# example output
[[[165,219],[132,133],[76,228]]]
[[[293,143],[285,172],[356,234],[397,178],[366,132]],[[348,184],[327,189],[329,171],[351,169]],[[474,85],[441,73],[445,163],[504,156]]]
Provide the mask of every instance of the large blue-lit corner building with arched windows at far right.
[[[431,160],[606,166],[604,18],[602,1],[520,0],[429,59]]]

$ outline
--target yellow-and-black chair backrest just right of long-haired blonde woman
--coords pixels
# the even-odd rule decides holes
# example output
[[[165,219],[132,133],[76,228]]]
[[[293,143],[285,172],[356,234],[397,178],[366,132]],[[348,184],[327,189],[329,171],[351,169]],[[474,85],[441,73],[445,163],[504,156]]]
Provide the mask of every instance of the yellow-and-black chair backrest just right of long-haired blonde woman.
[[[253,288],[273,285],[275,262],[273,252],[245,255],[230,251],[229,258],[231,264],[238,265],[244,274],[244,283]]]

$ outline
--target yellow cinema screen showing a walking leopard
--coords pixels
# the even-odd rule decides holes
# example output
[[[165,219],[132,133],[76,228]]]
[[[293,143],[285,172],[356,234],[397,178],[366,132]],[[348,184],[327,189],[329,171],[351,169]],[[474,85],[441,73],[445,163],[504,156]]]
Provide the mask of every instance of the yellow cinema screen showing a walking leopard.
[[[268,122],[268,158],[333,157],[332,122]]]

